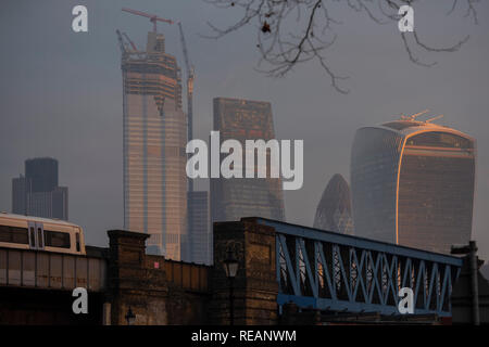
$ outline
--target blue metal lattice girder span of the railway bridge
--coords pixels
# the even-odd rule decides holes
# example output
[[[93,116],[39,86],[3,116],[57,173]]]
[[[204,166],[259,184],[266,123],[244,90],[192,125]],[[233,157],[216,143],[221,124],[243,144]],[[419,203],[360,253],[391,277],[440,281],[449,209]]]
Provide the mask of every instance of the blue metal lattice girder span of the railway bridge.
[[[414,294],[414,313],[451,316],[462,259],[258,218],[276,230],[279,307],[399,314],[399,290]]]

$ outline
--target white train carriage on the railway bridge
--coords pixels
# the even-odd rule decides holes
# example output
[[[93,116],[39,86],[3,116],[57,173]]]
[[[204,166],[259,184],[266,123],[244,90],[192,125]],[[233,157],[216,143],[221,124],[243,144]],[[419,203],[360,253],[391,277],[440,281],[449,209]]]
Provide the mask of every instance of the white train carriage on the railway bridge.
[[[0,213],[0,247],[86,255],[84,231],[64,220]]]

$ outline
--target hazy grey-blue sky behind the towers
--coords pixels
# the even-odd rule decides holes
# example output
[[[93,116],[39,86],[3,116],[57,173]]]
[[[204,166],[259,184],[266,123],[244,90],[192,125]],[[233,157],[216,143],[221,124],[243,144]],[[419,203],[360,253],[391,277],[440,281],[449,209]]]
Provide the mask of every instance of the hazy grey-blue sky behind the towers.
[[[271,79],[254,70],[255,28],[220,40],[205,39],[208,21],[230,24],[233,10],[202,0],[20,1],[0,4],[0,210],[11,210],[11,180],[24,160],[52,156],[60,184],[70,188],[70,219],[83,226],[87,242],[105,245],[105,231],[123,223],[122,74],[115,29],[139,48],[150,23],[121,11],[128,7],[184,23],[196,66],[195,136],[206,140],[212,99],[244,98],[272,102],[280,139],[304,140],[304,185],[287,191],[289,222],[311,226],[328,180],[339,172],[349,181],[355,130],[430,108],[437,123],[477,139],[477,185],[473,239],[489,259],[489,4],[477,5],[479,24],[461,7],[447,16],[451,1],[415,8],[415,27],[434,47],[471,35],[459,52],[424,54],[437,61],[426,68],[409,61],[397,23],[377,25],[364,13],[338,4],[330,66],[350,78],[348,95],[335,91],[316,63]],[[72,9],[88,8],[87,34],[71,29]],[[231,11],[231,12],[229,12]],[[161,24],[166,51],[180,62],[176,25]],[[203,185],[203,184],[201,184]]]

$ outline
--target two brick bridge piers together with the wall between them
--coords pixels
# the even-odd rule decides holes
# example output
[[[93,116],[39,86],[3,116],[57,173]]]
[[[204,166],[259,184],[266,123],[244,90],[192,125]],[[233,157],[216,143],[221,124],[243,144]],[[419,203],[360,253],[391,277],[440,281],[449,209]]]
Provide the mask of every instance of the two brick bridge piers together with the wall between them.
[[[229,324],[228,250],[239,261],[234,282],[236,324],[277,323],[275,230],[253,219],[214,226],[214,264],[206,267],[146,255],[147,234],[112,230],[109,257],[111,323]]]

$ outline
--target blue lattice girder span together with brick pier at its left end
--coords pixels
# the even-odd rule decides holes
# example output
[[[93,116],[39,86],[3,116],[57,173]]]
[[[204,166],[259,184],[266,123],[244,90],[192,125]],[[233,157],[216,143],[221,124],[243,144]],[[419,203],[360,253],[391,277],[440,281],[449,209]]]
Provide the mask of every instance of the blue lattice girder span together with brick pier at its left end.
[[[330,317],[406,319],[398,310],[403,287],[413,291],[411,317],[450,318],[463,265],[459,257],[254,217],[215,223],[214,249],[215,264],[226,259],[228,249],[239,259],[235,292],[238,307],[246,308],[237,313],[242,323],[263,316],[265,308],[262,322],[279,321],[288,304]],[[216,266],[214,291],[225,296],[220,271]]]

